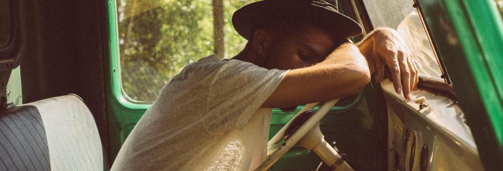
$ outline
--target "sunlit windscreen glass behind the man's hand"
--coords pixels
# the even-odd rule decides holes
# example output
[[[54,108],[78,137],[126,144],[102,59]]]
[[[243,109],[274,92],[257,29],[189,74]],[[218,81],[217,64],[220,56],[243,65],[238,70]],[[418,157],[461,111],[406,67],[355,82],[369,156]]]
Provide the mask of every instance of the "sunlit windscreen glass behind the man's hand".
[[[411,51],[419,75],[443,80],[442,70],[425,27],[412,0],[363,0],[374,28],[388,27],[398,31]]]

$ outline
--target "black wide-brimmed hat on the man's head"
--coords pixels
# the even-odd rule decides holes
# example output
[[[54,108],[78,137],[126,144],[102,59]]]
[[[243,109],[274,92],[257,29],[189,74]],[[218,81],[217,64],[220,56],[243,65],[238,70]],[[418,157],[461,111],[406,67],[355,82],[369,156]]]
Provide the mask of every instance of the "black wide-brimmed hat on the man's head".
[[[323,23],[331,34],[354,37],[362,33],[360,25],[339,13],[337,0],[264,0],[248,4],[232,16],[237,33],[247,40],[256,25],[282,23],[288,20],[312,20]]]

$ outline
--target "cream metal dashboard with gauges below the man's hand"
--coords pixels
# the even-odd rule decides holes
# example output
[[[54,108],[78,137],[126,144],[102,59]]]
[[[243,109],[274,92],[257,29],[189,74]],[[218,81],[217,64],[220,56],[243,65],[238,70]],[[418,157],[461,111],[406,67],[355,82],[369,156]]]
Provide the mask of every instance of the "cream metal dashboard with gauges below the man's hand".
[[[421,90],[407,101],[395,93],[390,80],[381,87],[389,117],[388,170],[483,170],[456,102]],[[423,107],[414,101],[420,97],[426,98]]]

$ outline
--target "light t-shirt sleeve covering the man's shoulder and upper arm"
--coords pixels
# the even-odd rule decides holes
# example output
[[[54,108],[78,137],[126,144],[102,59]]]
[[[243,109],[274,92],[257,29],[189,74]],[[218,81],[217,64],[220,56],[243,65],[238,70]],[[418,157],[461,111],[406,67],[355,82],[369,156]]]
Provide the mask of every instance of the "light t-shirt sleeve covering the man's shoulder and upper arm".
[[[216,72],[209,88],[207,114],[203,121],[211,134],[234,128],[243,130],[287,71],[231,60]]]

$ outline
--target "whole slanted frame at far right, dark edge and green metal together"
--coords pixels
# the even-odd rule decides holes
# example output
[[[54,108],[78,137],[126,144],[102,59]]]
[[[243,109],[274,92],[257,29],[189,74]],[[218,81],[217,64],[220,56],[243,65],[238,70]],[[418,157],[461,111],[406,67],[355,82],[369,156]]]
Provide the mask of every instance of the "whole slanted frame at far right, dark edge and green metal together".
[[[486,170],[503,170],[501,18],[492,0],[417,0]]]

